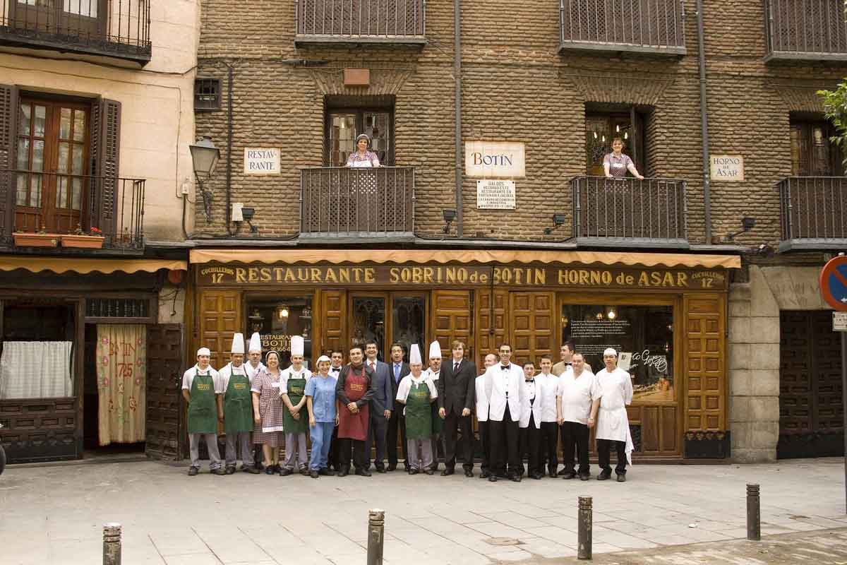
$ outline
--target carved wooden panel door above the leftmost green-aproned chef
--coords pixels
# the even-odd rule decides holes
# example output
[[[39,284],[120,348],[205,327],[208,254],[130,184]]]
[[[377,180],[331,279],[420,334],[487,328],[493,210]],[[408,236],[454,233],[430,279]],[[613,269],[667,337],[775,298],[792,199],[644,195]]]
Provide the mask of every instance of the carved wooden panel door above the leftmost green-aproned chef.
[[[213,368],[230,361],[232,336],[242,330],[239,291],[202,291],[200,294],[200,346],[212,352]]]

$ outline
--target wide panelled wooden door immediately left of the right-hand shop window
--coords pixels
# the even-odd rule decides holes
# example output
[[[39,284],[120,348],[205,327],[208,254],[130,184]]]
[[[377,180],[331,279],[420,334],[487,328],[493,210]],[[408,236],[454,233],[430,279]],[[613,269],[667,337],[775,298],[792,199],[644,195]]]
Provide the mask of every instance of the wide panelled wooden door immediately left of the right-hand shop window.
[[[512,361],[535,363],[542,355],[551,355],[556,336],[553,320],[556,294],[553,292],[509,293]]]

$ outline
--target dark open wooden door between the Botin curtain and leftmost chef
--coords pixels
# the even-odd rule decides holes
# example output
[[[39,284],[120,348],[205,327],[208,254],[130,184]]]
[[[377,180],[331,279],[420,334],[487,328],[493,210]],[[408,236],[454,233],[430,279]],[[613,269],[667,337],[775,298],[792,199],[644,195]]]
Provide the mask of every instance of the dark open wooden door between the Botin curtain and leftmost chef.
[[[147,457],[180,459],[182,325],[147,326]]]

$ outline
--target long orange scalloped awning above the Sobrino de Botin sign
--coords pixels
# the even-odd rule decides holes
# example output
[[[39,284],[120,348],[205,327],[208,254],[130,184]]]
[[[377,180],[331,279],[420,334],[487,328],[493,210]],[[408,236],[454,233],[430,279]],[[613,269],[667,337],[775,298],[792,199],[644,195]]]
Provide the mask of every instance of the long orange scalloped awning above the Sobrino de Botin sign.
[[[191,263],[602,263],[740,269],[735,255],[440,249],[192,249]]]

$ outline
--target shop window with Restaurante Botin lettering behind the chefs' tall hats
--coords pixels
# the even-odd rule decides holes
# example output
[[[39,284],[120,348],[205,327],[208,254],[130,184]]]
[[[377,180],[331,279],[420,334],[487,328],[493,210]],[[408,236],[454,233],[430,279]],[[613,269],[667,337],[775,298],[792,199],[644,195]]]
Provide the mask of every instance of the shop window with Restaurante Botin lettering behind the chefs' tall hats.
[[[246,342],[257,331],[262,336],[262,352],[280,353],[280,366],[291,364],[291,336],[302,335],[305,365],[312,369],[312,296],[248,297]],[[245,345],[246,345],[245,342]],[[224,358],[229,361],[229,356]]]

